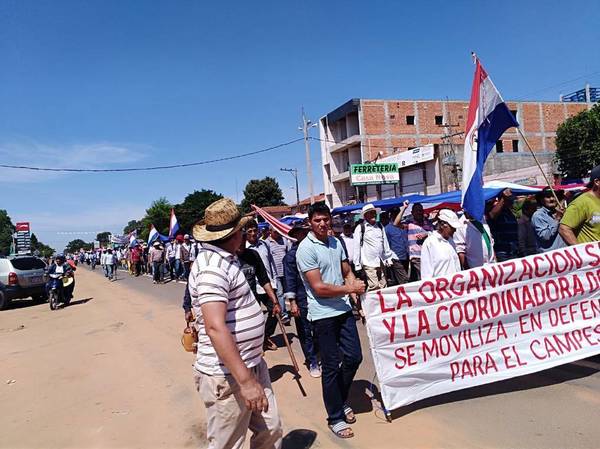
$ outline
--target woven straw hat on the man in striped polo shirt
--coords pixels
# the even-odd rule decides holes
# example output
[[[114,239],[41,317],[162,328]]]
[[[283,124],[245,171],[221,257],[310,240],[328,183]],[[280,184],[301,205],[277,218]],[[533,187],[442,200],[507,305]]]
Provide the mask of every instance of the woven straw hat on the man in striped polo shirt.
[[[240,230],[251,219],[242,216],[232,200],[222,198],[206,208],[204,219],[194,225],[192,235],[200,242],[214,242]]]

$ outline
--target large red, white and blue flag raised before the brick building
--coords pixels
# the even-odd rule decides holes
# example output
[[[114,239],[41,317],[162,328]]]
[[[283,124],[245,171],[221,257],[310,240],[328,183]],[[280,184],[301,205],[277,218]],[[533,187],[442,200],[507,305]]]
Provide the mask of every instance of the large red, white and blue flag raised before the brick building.
[[[481,222],[485,210],[485,161],[504,131],[513,126],[518,127],[519,123],[504,103],[477,56],[473,56],[476,67],[465,134],[461,205],[475,220]]]

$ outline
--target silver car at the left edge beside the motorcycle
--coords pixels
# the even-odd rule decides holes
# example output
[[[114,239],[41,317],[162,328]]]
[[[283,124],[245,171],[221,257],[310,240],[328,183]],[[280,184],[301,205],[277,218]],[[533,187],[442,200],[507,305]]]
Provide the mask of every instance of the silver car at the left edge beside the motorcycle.
[[[0,283],[4,284],[4,300],[0,310],[11,300],[33,298],[46,300],[46,263],[35,256],[9,256],[0,259]]]

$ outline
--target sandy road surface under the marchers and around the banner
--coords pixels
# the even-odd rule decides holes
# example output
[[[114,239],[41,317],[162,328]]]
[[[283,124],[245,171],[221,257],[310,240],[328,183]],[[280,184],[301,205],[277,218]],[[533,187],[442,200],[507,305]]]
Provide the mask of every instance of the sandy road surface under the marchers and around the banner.
[[[183,284],[125,273],[110,283],[84,268],[74,305],[51,312],[22,302],[1,312],[0,447],[205,447],[192,357],[179,343],[182,294]],[[388,424],[370,399],[374,369],[360,332],[352,440],[327,429],[319,380],[302,372],[303,398],[286,351],[266,355],[288,449],[315,435],[319,448],[599,446],[598,359],[427,399],[394,411]]]

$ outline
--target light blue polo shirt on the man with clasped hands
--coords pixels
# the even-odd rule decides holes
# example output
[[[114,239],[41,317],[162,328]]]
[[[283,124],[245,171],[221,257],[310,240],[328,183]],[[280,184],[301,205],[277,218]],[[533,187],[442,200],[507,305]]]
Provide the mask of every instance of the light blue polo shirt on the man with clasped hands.
[[[329,237],[327,243],[323,243],[310,232],[298,246],[296,264],[306,287],[310,321],[331,318],[352,310],[348,295],[337,298],[319,298],[306,279],[307,271],[319,270],[321,279],[326,284],[344,285],[342,261],[346,259],[344,249],[335,237]]]

